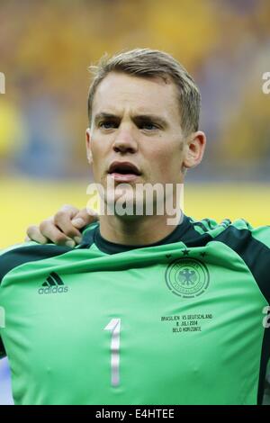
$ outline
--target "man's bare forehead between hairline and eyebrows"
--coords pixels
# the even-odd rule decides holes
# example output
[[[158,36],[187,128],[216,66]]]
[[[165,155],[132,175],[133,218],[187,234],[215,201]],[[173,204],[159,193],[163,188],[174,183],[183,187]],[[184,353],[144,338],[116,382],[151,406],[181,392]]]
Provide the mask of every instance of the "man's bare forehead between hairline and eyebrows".
[[[161,77],[130,76],[112,72],[94,94],[93,115],[99,112],[158,113],[179,120],[175,84]]]

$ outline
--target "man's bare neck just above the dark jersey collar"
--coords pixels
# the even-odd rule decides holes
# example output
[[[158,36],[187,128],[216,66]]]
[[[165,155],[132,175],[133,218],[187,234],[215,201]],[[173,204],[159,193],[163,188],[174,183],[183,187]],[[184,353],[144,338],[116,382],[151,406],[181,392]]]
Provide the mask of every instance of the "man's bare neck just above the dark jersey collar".
[[[173,224],[168,224],[167,220],[172,220]],[[148,245],[166,238],[182,220],[183,213],[180,210],[175,216],[103,215],[100,216],[100,232],[103,238],[116,244]]]

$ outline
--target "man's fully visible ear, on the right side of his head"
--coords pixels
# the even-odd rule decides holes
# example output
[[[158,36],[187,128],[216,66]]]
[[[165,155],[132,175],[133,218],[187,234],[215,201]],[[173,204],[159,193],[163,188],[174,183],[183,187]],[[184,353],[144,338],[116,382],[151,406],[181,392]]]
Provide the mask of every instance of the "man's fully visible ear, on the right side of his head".
[[[198,166],[203,157],[206,146],[206,136],[202,130],[197,130],[187,138],[184,146],[183,166],[187,169]]]

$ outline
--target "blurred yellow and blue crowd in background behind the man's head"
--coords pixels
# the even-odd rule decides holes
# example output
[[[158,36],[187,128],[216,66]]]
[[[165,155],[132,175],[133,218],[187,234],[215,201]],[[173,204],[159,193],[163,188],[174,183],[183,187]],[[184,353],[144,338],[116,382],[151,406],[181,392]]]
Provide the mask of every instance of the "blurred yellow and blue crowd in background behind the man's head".
[[[0,175],[87,175],[87,67],[135,47],[165,49],[201,88],[208,150],[190,177],[269,181],[268,0],[1,0]]]

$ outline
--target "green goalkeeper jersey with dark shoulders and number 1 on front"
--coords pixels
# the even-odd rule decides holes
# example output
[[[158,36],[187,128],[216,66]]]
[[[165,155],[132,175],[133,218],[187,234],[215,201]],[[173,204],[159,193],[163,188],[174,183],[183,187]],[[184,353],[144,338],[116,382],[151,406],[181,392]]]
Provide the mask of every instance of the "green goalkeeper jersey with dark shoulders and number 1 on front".
[[[0,257],[0,355],[16,404],[257,404],[270,352],[270,227],[183,223],[122,246]],[[268,319],[268,320],[267,320]],[[1,383],[1,381],[0,381]]]

